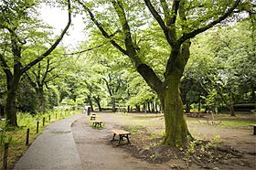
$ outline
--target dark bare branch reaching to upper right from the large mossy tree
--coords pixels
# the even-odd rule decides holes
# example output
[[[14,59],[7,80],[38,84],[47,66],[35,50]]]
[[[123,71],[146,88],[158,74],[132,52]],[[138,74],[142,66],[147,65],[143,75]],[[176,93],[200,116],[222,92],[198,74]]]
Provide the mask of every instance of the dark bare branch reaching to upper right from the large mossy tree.
[[[204,31],[208,30],[209,28],[214,27],[215,25],[219,24],[221,21],[223,21],[224,19],[226,19],[226,18],[234,11],[234,9],[235,9],[239,4],[240,4],[240,0],[237,0],[237,1],[235,2],[235,4],[234,4],[231,8],[229,8],[229,10],[228,10],[223,16],[219,16],[218,19],[212,21],[212,22],[209,23],[207,26],[199,27],[199,28],[197,28],[197,29],[191,31],[190,33],[184,34],[182,37],[180,37],[180,38],[178,39],[178,41],[179,41],[180,43],[183,43],[183,42],[185,42],[187,39],[189,39],[189,38],[191,38],[191,37],[195,37],[195,36],[197,36],[197,34],[202,33],[202,32],[204,32]]]

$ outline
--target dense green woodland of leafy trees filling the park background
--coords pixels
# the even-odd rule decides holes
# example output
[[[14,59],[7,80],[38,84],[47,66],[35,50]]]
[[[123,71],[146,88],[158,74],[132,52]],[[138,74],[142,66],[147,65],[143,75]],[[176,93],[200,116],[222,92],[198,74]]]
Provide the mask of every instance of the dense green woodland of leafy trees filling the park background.
[[[58,36],[39,19],[42,3],[67,11]],[[0,113],[9,124],[16,112],[67,105],[165,112],[165,143],[179,145],[190,134],[184,112],[255,110],[252,0],[3,0],[0,11]],[[88,38],[70,49],[60,41],[76,14]]]

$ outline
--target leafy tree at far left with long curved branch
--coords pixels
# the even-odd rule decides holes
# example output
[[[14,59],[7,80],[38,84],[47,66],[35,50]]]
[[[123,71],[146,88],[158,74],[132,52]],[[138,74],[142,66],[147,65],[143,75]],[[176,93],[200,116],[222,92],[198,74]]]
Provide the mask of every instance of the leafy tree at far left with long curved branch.
[[[38,33],[38,21],[32,15],[37,1],[5,0],[0,6],[0,30],[4,34],[1,41],[0,65],[5,71],[7,96],[5,102],[5,119],[11,126],[17,126],[16,122],[16,90],[19,86],[21,76],[28,69],[36,65],[59,45],[71,23],[70,1],[68,0],[69,21],[57,40],[42,54],[35,54],[27,63],[24,63],[23,52],[29,46],[37,44],[34,41],[35,32]],[[30,29],[28,29],[28,27]],[[41,26],[40,26],[41,27]],[[39,28],[38,28],[39,29]],[[26,46],[27,44],[27,46]],[[11,61],[10,61],[11,60]],[[13,69],[13,70],[12,70]]]

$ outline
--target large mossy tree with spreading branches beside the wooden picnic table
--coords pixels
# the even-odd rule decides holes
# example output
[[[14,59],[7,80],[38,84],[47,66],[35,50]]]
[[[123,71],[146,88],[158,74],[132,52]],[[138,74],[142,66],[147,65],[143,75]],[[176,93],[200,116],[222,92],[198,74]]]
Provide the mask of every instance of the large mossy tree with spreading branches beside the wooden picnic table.
[[[190,38],[196,37],[197,34],[214,27],[230,16],[240,4],[240,0],[234,3],[218,1],[214,4],[211,1],[192,4],[186,0],[172,2],[161,0],[160,3],[156,1],[152,3],[150,0],[144,0],[144,3],[112,0],[112,5],[105,5],[109,6],[108,12],[115,12],[115,17],[117,18],[117,21],[112,21],[111,24],[104,22],[105,18],[112,16],[109,13],[105,16],[101,15],[103,20],[100,22],[96,18],[98,15],[94,16],[89,8],[91,4],[83,3],[80,0],[77,2],[89,14],[91,21],[99,28],[102,36],[109,39],[112,46],[131,59],[133,67],[141,74],[147,84],[155,90],[165,112],[164,143],[174,146],[187,143],[187,135],[190,135],[190,133],[183,114],[179,82],[189,58]],[[139,10],[142,13],[144,12],[144,5],[147,6],[159,27],[161,27],[168,45],[167,48],[169,48],[169,57],[163,73],[164,79],[160,79],[154,69],[144,62],[142,58],[146,58],[146,56],[140,50],[135,40],[136,36],[133,34],[135,30],[139,29],[134,24],[133,18],[141,21],[144,19],[143,15],[137,15],[140,7],[142,8]],[[136,11],[132,11],[134,8]],[[161,15],[162,12],[164,12],[164,15]],[[164,19],[163,16],[165,17]],[[101,24],[102,22],[103,24]],[[109,33],[111,30],[116,29],[112,28],[112,26],[118,23],[120,24],[118,28],[122,30],[122,40],[115,39]],[[105,26],[108,26],[108,29],[105,29]]]

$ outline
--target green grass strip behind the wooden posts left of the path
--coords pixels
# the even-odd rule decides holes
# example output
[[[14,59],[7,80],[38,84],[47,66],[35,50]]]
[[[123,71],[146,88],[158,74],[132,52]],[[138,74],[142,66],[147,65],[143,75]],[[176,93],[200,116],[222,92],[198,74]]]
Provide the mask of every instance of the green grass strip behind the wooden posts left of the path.
[[[79,112],[56,110],[53,112],[32,116],[29,113],[19,112],[17,113],[18,128],[9,128],[5,126],[5,122],[0,122],[0,127],[3,129],[3,131],[0,133],[0,169],[2,168],[3,164],[4,143],[9,143],[7,169],[11,169],[18,158],[27,150],[27,128],[30,130],[29,143],[31,144],[35,141],[37,136],[42,133],[44,127],[46,127],[50,122],[56,122],[77,113]],[[43,117],[45,117],[45,126],[43,126]],[[37,121],[39,122],[38,133]]]

